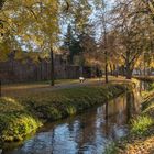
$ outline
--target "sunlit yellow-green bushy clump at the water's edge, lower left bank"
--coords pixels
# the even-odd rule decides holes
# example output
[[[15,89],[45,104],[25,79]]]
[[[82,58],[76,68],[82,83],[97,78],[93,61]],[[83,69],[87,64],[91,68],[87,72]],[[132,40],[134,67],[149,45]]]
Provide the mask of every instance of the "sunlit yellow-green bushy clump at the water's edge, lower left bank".
[[[22,140],[41,124],[38,120],[26,113],[0,114],[1,140]]]

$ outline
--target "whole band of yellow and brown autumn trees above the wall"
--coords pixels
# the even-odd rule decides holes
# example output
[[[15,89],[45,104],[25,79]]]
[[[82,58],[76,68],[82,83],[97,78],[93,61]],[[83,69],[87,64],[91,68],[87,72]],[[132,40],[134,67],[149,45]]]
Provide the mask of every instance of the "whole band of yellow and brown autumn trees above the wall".
[[[154,67],[153,30],[153,1],[2,0],[0,59],[12,50],[21,51],[18,58],[23,51],[44,53],[54,85],[53,52],[61,51],[72,64],[103,69],[106,81],[119,68],[130,79],[134,68]]]

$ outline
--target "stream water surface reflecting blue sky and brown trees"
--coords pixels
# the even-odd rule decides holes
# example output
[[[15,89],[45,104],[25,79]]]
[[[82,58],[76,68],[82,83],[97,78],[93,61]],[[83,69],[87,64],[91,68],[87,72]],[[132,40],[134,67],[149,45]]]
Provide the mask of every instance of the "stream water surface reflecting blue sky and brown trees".
[[[6,146],[3,154],[102,154],[108,143],[127,134],[136,103],[133,92],[127,92],[80,116],[47,124],[23,145]]]

